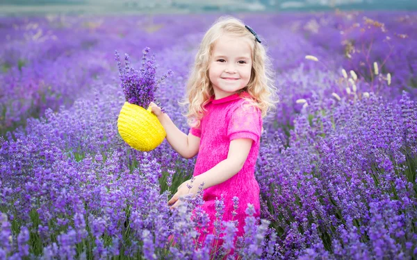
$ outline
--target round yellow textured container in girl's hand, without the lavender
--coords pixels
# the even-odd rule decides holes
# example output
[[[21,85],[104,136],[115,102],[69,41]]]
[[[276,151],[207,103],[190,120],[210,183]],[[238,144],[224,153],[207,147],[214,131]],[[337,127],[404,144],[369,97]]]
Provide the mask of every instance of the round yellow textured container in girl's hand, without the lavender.
[[[117,129],[122,139],[132,148],[147,152],[159,146],[167,136],[165,129],[149,106],[124,102],[117,119]]]

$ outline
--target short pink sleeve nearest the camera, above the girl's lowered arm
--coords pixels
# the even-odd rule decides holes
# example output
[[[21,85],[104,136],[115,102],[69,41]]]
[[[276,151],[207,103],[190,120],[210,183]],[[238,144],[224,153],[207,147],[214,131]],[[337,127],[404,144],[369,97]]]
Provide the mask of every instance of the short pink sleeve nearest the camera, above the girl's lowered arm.
[[[231,114],[227,127],[227,137],[230,141],[239,138],[249,138],[254,142],[261,137],[261,110],[252,105],[239,105]]]

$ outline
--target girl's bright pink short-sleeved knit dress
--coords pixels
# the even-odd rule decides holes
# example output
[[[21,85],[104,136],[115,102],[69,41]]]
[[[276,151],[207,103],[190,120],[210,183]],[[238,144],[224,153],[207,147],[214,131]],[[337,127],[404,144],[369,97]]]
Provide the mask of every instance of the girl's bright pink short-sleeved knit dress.
[[[222,220],[238,220],[237,236],[243,236],[245,233],[243,227],[245,226],[245,217],[247,216],[245,210],[248,203],[254,205],[254,216],[257,221],[259,221],[261,214],[259,184],[254,176],[262,128],[261,110],[252,106],[243,107],[246,103],[243,96],[250,97],[250,94],[242,92],[218,100],[214,100],[212,96],[209,103],[206,104],[207,112],[199,129],[190,128],[192,135],[201,138],[193,176],[205,173],[222,160],[227,159],[231,140],[239,138],[253,140],[252,148],[243,168],[229,180],[204,190],[204,204],[200,207],[206,211],[211,220],[208,223],[208,234],[214,234],[215,199],[220,200],[222,194],[224,198]],[[234,211],[234,202],[232,201],[234,196],[239,198],[239,202],[236,210],[237,215],[233,217],[231,213]],[[200,233],[198,242],[203,243],[206,235],[200,230],[197,232]],[[220,237],[222,236],[223,234],[220,235]],[[218,245],[221,245],[222,242],[220,239]],[[236,243],[236,239],[234,243]]]

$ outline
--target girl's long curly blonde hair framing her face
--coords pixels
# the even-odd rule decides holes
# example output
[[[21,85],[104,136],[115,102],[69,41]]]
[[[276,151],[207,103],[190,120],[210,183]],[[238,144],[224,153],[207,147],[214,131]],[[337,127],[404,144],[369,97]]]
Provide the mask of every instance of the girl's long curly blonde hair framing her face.
[[[252,71],[249,83],[240,92],[246,91],[252,96],[251,105],[259,107],[262,117],[275,107],[279,102],[277,89],[274,85],[274,74],[271,69],[270,58],[266,54],[265,47],[255,41],[255,37],[250,33],[245,24],[235,17],[220,17],[208,29],[202,42],[199,44],[197,55],[195,55],[195,64],[190,71],[186,86],[186,97],[183,98],[181,105],[188,104],[188,113],[185,114],[188,125],[199,127],[200,121],[206,112],[204,105],[213,96],[213,87],[208,77],[208,66],[213,53],[213,47],[222,35],[233,37],[246,37],[250,39],[252,50]]]

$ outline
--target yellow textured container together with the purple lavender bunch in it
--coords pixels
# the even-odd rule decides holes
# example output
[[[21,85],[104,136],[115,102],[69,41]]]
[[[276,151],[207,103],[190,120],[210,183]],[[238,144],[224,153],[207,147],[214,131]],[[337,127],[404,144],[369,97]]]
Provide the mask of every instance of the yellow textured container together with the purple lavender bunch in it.
[[[117,119],[117,128],[120,136],[129,146],[141,150],[154,150],[166,137],[165,129],[158,118],[152,114],[149,104],[154,101],[159,83],[172,75],[169,70],[159,80],[155,80],[155,55],[148,58],[149,48],[143,50],[142,67],[140,70],[129,66],[129,55],[124,58],[124,68],[120,62],[119,53],[115,52],[115,60],[119,67],[119,76],[122,81],[126,102],[120,110]],[[159,105],[159,104],[158,104]]]

